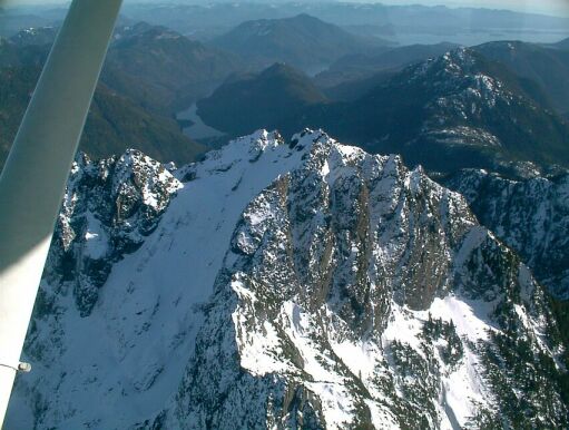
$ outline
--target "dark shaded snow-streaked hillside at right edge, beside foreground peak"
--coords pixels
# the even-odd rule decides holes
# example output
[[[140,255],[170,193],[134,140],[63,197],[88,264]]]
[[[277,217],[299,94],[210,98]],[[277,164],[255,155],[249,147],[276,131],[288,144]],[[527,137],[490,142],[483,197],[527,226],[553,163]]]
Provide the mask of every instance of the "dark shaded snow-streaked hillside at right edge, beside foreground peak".
[[[551,178],[514,180],[465,169],[443,183],[467,198],[478,219],[519,253],[542,285],[556,296],[569,299],[567,172]]]

